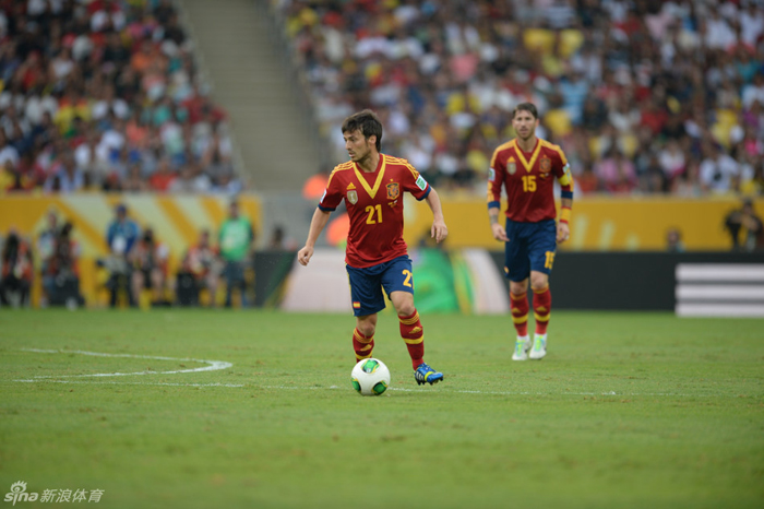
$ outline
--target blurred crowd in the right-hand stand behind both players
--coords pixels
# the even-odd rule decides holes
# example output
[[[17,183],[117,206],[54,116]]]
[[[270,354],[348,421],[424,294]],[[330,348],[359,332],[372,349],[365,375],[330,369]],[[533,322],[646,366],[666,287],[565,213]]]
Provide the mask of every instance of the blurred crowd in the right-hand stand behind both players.
[[[485,190],[539,107],[576,192],[764,193],[761,0],[276,0],[323,133],[371,107],[384,151]]]

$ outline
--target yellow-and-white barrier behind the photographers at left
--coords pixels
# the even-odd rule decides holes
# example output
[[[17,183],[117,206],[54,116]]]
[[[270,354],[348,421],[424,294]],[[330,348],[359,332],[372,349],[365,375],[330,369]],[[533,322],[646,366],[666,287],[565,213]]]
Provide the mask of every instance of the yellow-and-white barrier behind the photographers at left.
[[[256,197],[238,199],[241,214],[252,221],[255,232],[261,230],[261,205]],[[154,229],[157,240],[170,250],[170,274],[175,273],[179,260],[189,246],[196,242],[201,229],[210,229],[215,238],[219,225],[228,214],[229,199],[204,196],[158,194],[57,194],[57,196],[4,196],[0,198],[0,235],[7,236],[11,228],[36,241],[47,227],[47,213],[56,212],[60,223],[70,221],[74,225],[73,237],[81,247],[80,286],[88,304],[104,305],[99,292],[103,274],[96,260],[108,253],[106,232],[115,218],[115,206],[124,203],[128,214],[141,228]],[[39,265],[39,260],[35,263]],[[33,301],[39,297],[39,277],[36,274]]]

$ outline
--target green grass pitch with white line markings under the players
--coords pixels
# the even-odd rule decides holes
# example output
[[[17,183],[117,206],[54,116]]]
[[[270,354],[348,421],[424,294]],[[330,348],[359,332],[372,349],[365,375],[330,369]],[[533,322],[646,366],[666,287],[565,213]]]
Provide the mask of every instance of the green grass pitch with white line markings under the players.
[[[108,508],[764,506],[764,321],[556,312],[525,363],[508,317],[422,321],[445,381],[415,383],[382,315],[391,390],[362,398],[350,316],[3,309],[0,497],[25,481]]]

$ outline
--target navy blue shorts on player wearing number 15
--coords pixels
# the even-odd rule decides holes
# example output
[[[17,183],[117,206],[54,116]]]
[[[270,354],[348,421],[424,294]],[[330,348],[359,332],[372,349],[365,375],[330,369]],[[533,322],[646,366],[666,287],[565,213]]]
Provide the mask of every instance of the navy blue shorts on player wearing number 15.
[[[530,271],[551,274],[557,250],[557,223],[554,220],[538,223],[518,223],[506,220],[504,246],[504,275],[520,282],[530,275]]]

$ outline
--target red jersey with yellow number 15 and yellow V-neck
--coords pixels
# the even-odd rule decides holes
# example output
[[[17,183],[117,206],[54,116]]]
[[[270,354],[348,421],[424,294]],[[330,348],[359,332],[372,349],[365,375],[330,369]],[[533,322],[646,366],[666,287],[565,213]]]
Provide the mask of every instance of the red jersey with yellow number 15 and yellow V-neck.
[[[506,217],[524,223],[553,220],[553,177],[560,180],[563,192],[572,196],[573,178],[559,146],[540,138],[532,153],[523,152],[516,140],[499,145],[488,171],[488,206],[501,206],[503,186],[509,202]]]

